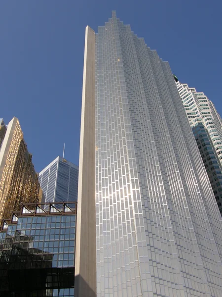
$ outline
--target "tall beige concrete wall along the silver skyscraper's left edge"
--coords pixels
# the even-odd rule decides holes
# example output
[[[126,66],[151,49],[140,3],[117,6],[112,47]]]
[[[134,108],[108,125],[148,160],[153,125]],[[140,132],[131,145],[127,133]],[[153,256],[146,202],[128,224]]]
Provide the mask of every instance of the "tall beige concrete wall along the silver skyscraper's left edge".
[[[96,296],[95,32],[86,27],[78,173],[75,296]]]

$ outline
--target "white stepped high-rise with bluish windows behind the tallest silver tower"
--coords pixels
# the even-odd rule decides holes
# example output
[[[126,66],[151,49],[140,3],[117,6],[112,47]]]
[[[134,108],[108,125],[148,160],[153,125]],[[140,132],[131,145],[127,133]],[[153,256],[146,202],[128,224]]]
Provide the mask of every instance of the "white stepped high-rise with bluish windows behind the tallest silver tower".
[[[203,92],[175,81],[222,214],[222,119]]]

